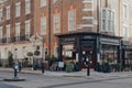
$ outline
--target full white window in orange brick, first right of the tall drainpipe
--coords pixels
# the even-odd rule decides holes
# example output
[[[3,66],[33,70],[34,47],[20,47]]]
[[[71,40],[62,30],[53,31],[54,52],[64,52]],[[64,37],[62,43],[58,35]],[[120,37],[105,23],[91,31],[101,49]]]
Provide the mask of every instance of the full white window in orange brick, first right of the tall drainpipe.
[[[61,13],[55,13],[53,15],[53,31],[58,33],[61,31]]]

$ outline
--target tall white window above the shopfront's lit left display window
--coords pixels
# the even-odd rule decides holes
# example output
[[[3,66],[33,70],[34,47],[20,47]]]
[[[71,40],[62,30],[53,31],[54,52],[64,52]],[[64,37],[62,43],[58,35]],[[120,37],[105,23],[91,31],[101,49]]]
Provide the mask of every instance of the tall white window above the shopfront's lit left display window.
[[[75,31],[76,30],[76,10],[70,9],[68,11],[68,31]]]

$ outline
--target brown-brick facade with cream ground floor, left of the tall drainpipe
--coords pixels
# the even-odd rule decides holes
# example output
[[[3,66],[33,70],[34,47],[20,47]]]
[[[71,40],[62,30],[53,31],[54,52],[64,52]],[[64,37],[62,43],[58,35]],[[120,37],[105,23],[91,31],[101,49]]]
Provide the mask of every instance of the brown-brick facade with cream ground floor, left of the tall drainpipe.
[[[15,61],[24,62],[29,58],[28,53],[48,43],[48,6],[41,0],[2,0],[0,2],[0,59],[7,64],[10,53]],[[47,16],[48,18],[48,16]],[[36,26],[37,25],[37,26]],[[42,38],[43,37],[43,38]],[[45,44],[44,44],[44,43]],[[33,63],[33,61],[29,61]]]

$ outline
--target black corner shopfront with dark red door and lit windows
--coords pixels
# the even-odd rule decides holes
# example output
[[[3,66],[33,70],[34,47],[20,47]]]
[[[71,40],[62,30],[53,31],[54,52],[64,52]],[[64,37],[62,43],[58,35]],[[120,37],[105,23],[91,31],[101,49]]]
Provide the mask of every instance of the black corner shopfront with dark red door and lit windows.
[[[70,33],[57,35],[58,58],[65,64],[73,62],[79,69],[87,67],[96,68],[97,63],[102,64],[108,58],[111,63],[120,59],[120,37],[97,33]]]

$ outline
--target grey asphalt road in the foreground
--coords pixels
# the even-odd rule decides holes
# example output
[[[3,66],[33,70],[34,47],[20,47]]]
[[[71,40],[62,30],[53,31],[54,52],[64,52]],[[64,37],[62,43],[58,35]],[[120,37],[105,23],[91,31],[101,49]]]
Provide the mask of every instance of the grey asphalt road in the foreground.
[[[94,80],[81,77],[53,77],[45,75],[19,74],[25,81],[2,81],[13,73],[0,72],[0,88],[132,88],[132,78]]]

